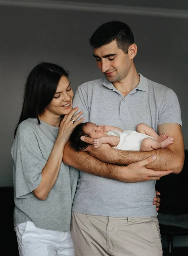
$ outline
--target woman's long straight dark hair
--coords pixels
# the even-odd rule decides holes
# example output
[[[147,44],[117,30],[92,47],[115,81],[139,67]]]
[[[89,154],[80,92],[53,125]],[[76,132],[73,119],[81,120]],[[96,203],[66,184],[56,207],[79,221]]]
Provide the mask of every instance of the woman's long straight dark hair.
[[[62,67],[47,62],[40,62],[32,69],[26,80],[23,106],[17,127],[29,117],[37,118],[38,124],[40,124],[38,116],[52,101],[61,76],[68,77],[68,75],[69,73]],[[14,131],[14,137],[17,127]]]

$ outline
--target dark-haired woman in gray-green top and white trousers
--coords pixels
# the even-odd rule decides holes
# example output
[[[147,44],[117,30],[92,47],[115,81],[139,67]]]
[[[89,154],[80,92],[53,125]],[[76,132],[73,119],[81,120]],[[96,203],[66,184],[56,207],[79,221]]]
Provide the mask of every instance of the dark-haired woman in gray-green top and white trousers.
[[[30,72],[12,146],[14,226],[20,256],[74,255],[70,236],[78,173],[62,162],[74,116],[68,73],[40,63]]]

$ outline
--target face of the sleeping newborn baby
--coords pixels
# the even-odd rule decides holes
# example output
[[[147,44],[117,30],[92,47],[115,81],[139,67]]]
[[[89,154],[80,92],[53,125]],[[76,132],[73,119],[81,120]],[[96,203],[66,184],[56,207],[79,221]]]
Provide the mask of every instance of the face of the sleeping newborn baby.
[[[84,127],[84,131],[93,139],[107,136],[107,131],[104,129],[103,125],[95,125],[92,122],[89,122],[86,127]]]

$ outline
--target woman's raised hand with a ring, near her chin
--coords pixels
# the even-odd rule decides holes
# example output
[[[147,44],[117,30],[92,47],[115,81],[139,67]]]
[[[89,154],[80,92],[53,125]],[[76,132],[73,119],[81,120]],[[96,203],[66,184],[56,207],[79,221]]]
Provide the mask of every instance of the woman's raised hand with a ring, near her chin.
[[[69,136],[72,133],[73,129],[76,127],[76,125],[80,124],[84,120],[84,117],[82,117],[81,119],[76,121],[78,117],[80,117],[83,113],[83,111],[80,111],[74,116],[76,111],[78,111],[78,107],[74,108],[72,111],[70,111],[69,114],[64,116],[59,125],[59,133],[56,141],[60,141],[65,145],[69,140]]]

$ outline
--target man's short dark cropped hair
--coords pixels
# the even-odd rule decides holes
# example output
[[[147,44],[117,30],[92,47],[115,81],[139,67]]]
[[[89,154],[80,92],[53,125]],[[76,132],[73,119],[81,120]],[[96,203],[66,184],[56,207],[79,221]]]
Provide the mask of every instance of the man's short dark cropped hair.
[[[102,24],[95,30],[90,38],[90,45],[93,48],[99,48],[114,40],[117,41],[119,49],[127,53],[129,46],[134,43],[133,32],[127,24],[113,20]]]

